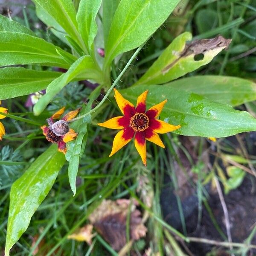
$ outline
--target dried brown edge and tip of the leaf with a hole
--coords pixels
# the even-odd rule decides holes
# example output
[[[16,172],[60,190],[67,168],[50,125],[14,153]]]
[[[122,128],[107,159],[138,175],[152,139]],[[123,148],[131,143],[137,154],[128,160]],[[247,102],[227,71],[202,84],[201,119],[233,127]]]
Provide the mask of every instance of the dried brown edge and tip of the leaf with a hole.
[[[166,66],[162,70],[162,73],[163,75],[166,74],[171,69],[171,67],[173,67],[181,58],[187,57],[189,55],[205,54],[208,51],[218,48],[227,49],[231,41],[232,39],[226,39],[223,36],[218,35],[215,38],[200,39],[188,43],[186,44],[184,50],[180,53],[180,56],[171,64]]]

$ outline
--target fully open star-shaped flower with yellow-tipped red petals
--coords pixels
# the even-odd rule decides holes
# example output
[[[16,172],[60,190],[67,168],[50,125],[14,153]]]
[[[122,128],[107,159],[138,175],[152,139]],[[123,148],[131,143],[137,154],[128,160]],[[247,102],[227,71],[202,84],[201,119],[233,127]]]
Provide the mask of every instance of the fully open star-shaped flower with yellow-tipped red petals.
[[[157,119],[167,102],[164,100],[146,111],[146,97],[148,90],[142,93],[137,99],[136,108],[128,100],[115,91],[115,99],[123,116],[116,116],[106,122],[98,123],[99,126],[121,130],[116,134],[113,140],[113,146],[110,157],[115,154],[124,145],[129,143],[135,134],[135,148],[140,154],[143,163],[146,165],[146,140],[151,141],[162,148],[165,148],[158,134],[164,134],[169,131],[179,129],[180,125],[170,125]]]

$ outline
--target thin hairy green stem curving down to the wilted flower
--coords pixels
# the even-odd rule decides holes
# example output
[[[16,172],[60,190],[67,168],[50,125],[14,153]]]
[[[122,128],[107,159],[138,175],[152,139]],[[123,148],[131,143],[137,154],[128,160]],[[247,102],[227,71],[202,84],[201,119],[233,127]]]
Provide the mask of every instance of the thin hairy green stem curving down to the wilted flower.
[[[89,116],[91,113],[95,112],[98,108],[100,108],[100,106],[105,102],[105,100],[108,98],[108,95],[111,93],[111,91],[113,90],[113,88],[116,86],[116,84],[118,83],[118,81],[121,79],[121,77],[123,76],[123,74],[125,73],[125,71],[128,69],[128,67],[130,66],[131,62],[134,60],[134,58],[136,57],[136,55],[140,52],[140,50],[142,49],[143,45],[141,45],[136,52],[134,52],[134,55],[131,56],[130,60],[127,62],[127,64],[125,65],[124,69],[122,70],[122,72],[119,74],[119,76],[116,78],[116,80],[113,82],[113,84],[111,85],[111,87],[109,88],[108,92],[105,94],[104,98],[102,99],[101,102],[99,102],[99,104],[93,108],[92,110],[88,111],[87,113],[85,113],[84,115],[81,115],[79,117],[76,117],[72,120],[70,120],[70,122],[74,122],[77,121],[79,119],[84,118],[85,116]]]

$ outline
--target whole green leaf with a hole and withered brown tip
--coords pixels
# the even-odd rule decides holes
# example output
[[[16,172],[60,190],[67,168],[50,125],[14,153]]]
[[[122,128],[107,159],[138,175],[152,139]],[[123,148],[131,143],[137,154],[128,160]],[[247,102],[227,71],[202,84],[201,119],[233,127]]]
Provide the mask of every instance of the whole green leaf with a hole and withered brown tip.
[[[231,42],[219,35],[212,39],[186,43],[191,39],[192,35],[189,32],[175,38],[136,84],[163,84],[177,79],[208,64]],[[196,60],[200,55],[201,59]]]

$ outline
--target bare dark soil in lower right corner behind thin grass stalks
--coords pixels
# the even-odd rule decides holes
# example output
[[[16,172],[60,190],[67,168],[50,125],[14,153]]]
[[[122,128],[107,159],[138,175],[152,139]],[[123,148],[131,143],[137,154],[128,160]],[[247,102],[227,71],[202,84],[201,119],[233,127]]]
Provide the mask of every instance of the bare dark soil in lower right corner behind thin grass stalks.
[[[167,196],[167,194],[169,195]],[[167,198],[168,200],[166,200]],[[245,178],[244,182],[238,189],[232,190],[228,195],[224,195],[224,200],[227,204],[229,213],[233,242],[243,243],[252,231],[256,220],[256,192],[252,192],[251,181],[248,178]],[[164,191],[162,194],[162,203],[165,221],[182,232],[180,215],[173,192]],[[202,209],[201,222],[198,223],[198,201],[195,195],[183,200],[182,204],[186,217],[186,229],[188,236],[224,241],[215,229],[209,213],[204,206]],[[219,227],[226,235],[224,213],[218,194],[209,194],[208,204],[212,209]],[[256,244],[256,236],[254,236],[251,243]],[[189,243],[187,245],[189,250],[191,250],[195,256],[204,256],[208,252],[212,251],[213,247],[215,247],[204,243]],[[256,250],[251,250],[248,255],[256,255]]]

